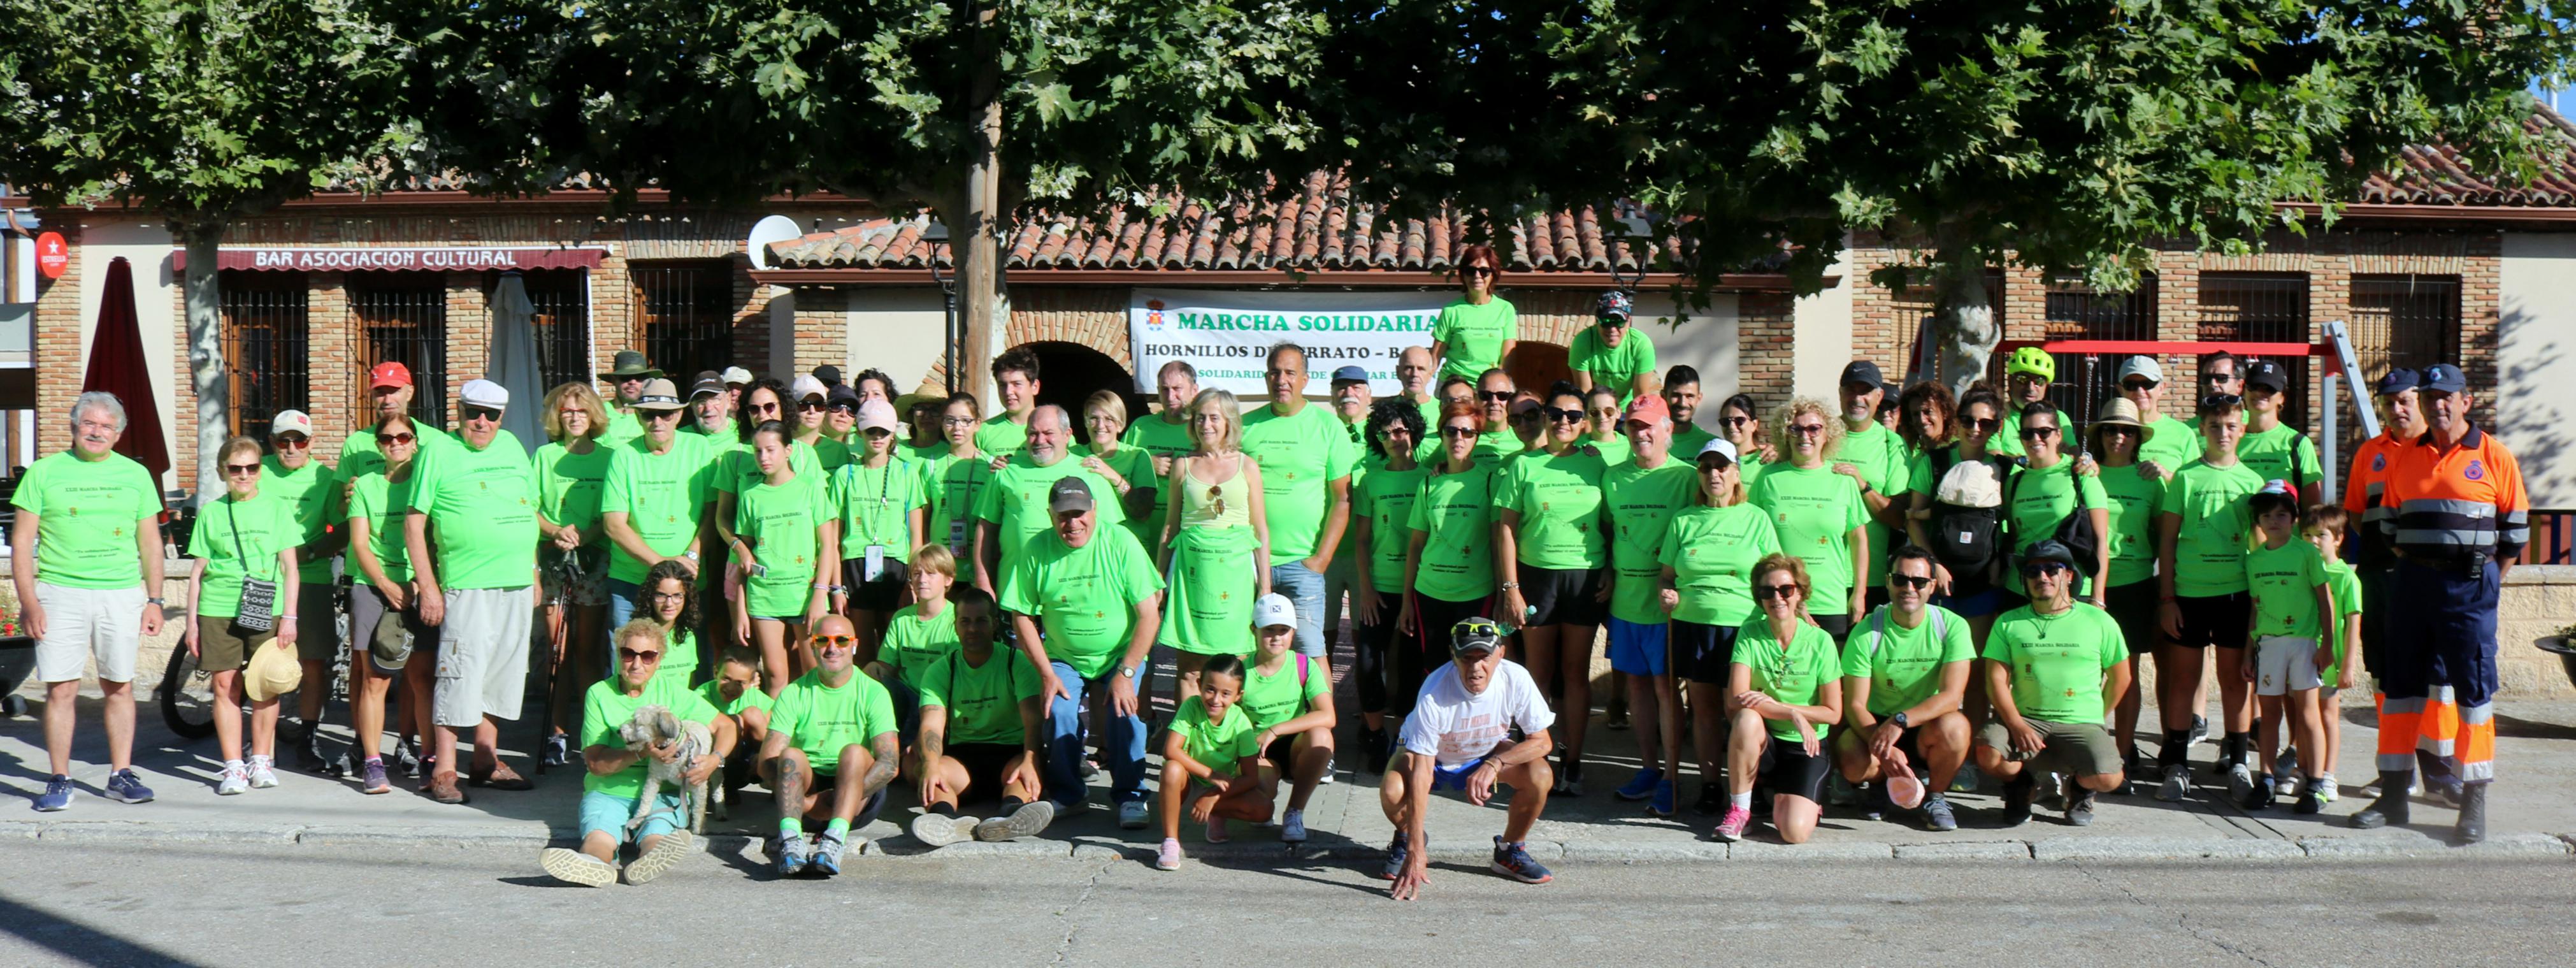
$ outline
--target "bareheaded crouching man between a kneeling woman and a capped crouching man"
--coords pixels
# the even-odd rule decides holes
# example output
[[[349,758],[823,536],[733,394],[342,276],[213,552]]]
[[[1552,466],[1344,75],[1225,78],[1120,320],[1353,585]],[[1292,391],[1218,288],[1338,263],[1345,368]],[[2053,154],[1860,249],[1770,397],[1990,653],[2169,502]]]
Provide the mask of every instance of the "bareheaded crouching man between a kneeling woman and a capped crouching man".
[[[1958,816],[1940,790],[1968,762],[1968,718],[1958,713],[1958,700],[1968,695],[1976,644],[1968,641],[1968,620],[1927,605],[1929,595],[1932,554],[1896,548],[1888,602],[1855,626],[1852,644],[1842,649],[1842,716],[1852,729],[1834,734],[1834,762],[1850,783],[1927,767],[1924,826],[1950,832]],[[1868,819],[1888,806],[1888,785],[1878,783],[1865,803]]]

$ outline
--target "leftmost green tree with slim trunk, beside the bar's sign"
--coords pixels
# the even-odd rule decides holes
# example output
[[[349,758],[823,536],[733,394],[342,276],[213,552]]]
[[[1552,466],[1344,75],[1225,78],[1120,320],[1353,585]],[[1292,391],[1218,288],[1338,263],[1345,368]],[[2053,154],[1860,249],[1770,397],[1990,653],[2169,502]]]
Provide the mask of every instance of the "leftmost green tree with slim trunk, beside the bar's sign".
[[[0,0],[0,170],[46,206],[131,206],[188,250],[196,487],[222,494],[232,381],[216,245],[410,142],[410,46],[371,0]]]

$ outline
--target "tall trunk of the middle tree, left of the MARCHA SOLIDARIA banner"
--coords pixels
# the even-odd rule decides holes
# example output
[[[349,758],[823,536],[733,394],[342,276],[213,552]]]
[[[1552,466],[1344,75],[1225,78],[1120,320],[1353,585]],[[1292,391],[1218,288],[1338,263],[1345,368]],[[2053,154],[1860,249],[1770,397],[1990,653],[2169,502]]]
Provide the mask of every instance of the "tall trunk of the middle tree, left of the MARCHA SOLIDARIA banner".
[[[966,124],[974,136],[966,142],[974,157],[966,162],[966,211],[948,224],[948,250],[958,257],[958,317],[963,335],[958,366],[966,368],[961,386],[984,396],[987,360],[992,360],[994,314],[1002,296],[1002,26],[999,5],[987,3],[974,13],[976,75],[966,90]]]

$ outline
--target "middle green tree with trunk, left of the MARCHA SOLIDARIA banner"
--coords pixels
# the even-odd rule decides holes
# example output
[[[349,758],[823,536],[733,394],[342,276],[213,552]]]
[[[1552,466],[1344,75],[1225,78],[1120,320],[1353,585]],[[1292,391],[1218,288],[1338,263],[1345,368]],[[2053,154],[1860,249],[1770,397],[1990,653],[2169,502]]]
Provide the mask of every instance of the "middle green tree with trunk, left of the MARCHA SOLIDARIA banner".
[[[927,206],[961,255],[979,360],[1002,216],[1257,185],[1311,131],[1324,21],[1226,0],[435,3],[417,82],[435,157],[487,191],[587,170],[631,198],[837,191]]]

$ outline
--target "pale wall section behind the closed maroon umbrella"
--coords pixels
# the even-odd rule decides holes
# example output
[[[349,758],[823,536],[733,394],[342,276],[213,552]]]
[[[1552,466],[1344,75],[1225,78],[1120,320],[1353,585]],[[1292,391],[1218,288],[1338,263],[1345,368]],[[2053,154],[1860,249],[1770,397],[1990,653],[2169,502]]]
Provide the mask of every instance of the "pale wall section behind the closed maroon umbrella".
[[[178,278],[170,273],[170,229],[160,221],[95,221],[80,219],[80,378],[90,373],[90,337],[98,330],[98,306],[108,291],[108,263],[118,255],[134,263],[134,322],[144,335],[144,360],[152,371],[152,391],[160,394],[162,440],[170,443],[173,471],[162,476],[162,489],[178,487],[175,463],[196,461],[196,440],[178,440],[178,345],[188,337],[188,324],[178,317]],[[57,366],[57,363],[46,363]],[[64,420],[39,414],[39,420]]]

